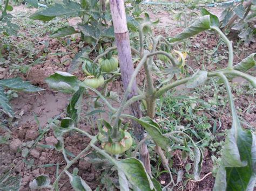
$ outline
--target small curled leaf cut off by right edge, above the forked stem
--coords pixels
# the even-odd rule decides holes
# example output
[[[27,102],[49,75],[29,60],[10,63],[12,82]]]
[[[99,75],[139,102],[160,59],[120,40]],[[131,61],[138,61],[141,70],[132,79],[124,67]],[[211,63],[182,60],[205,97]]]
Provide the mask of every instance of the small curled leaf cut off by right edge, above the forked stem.
[[[240,61],[237,65],[234,66],[234,69],[239,70],[241,72],[246,72],[247,70],[254,68],[256,65],[256,53],[252,53],[247,56],[245,59]]]

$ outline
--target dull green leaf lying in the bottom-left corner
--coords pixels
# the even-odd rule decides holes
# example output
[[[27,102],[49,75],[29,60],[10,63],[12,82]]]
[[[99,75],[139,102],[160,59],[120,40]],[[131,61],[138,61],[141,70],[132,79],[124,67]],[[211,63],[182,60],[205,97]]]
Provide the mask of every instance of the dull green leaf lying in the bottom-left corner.
[[[21,187],[22,178],[20,176],[12,176],[11,171],[1,174],[0,190],[18,191]]]

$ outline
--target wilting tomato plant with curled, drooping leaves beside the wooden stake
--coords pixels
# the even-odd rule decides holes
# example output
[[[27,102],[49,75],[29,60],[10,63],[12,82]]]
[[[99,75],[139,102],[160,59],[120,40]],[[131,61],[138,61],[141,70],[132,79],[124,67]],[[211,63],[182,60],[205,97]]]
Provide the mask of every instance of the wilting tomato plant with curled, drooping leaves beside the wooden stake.
[[[41,12],[40,14],[45,14],[45,12]],[[31,188],[48,187],[52,190],[58,189],[58,181],[65,173],[69,176],[71,185],[74,189],[83,188],[84,190],[91,190],[91,188],[82,178],[80,178],[80,176],[77,175],[77,173],[71,174],[68,171],[68,169],[75,164],[83,154],[91,149],[102,155],[112,166],[114,166],[119,180],[119,185],[117,187],[120,190],[130,190],[130,187],[134,190],[166,190],[167,188],[173,189],[176,187],[182,178],[182,172],[178,173],[177,181],[174,181],[172,178],[173,172],[169,165],[170,158],[168,158],[174,146],[184,146],[191,153],[190,157],[191,160],[193,160],[193,177],[190,179],[193,179],[193,181],[200,180],[201,165],[204,160],[201,147],[182,130],[165,133],[163,128],[154,119],[156,116],[156,102],[160,97],[164,96],[167,91],[172,90],[180,84],[185,84],[186,88],[196,88],[205,83],[208,79],[218,78],[227,90],[233,124],[226,138],[221,165],[215,179],[214,190],[253,190],[255,183],[254,163],[256,159],[256,139],[255,135],[251,131],[243,130],[240,125],[228,79],[234,76],[240,76],[248,80],[255,88],[255,77],[246,73],[247,70],[255,67],[255,53],[234,65],[232,43],[219,29],[218,17],[208,12],[206,9],[202,9],[201,14],[202,16],[195,20],[190,26],[186,27],[183,32],[169,38],[168,40],[162,36],[154,36],[151,27],[156,23],[150,22],[149,15],[147,13],[144,14],[144,17],[136,18],[137,23],[134,22],[136,23],[134,27],[139,32],[139,48],[132,47],[130,51],[133,52],[133,58],[136,58],[138,63],[134,72],[131,74],[130,81],[127,83],[127,88],[118,107],[114,107],[111,104],[109,101],[110,96],[106,96],[105,94],[105,88],[103,88],[102,91],[100,91],[100,89],[95,89],[100,86],[99,81],[94,81],[93,84],[84,83],[83,81],[78,80],[76,76],[65,72],[56,72],[46,79],[49,87],[64,93],[72,94],[72,99],[66,109],[66,117],[62,118],[60,122],[51,123],[54,135],[59,140],[58,151],[62,151],[66,161],[66,166],[63,171],[58,174],[52,185],[50,185],[48,177],[41,175],[32,181],[34,183],[31,185]],[[53,16],[48,15],[48,17]],[[181,73],[181,68],[185,65],[185,56],[182,52],[186,50],[181,49],[177,51],[174,49],[174,46],[184,43],[184,40],[187,40],[187,38],[193,37],[206,30],[211,30],[217,33],[218,37],[227,45],[227,66],[212,72],[208,72],[203,69],[198,70],[193,75],[187,77],[180,75],[177,80],[173,80],[173,78],[164,79],[163,83],[161,83],[160,86],[157,86],[156,82],[153,81],[152,76],[154,73],[152,68],[157,68],[160,71],[161,69],[164,70],[163,74],[165,74],[165,76],[169,75],[173,70],[177,70]],[[151,46],[146,45],[146,40],[150,41]],[[161,46],[163,44],[164,46]],[[168,47],[168,50],[166,47]],[[111,82],[114,77],[119,76],[119,70],[114,73],[103,74],[101,73],[100,66],[97,65],[97,62],[101,58],[104,58],[105,55],[109,54],[116,48],[118,47],[113,46],[107,48],[105,52],[99,54],[93,61],[88,58],[84,58],[82,69],[87,77],[93,76],[99,78],[100,76],[105,75],[106,81],[104,84],[107,85],[107,83]],[[163,60],[168,62],[168,64],[163,64],[161,67],[158,67],[156,63],[154,63],[153,59],[154,56],[158,55],[166,56]],[[121,56],[119,56],[119,60],[120,59]],[[120,67],[122,68],[122,65],[120,65]],[[144,91],[141,91],[142,93],[131,96],[134,81],[142,67],[144,67],[145,70],[146,88]],[[104,109],[103,106],[98,106],[98,100],[101,100],[105,104],[105,107],[107,107],[107,113],[109,114],[109,118],[106,121],[104,119],[98,119],[97,127],[99,132],[97,135],[90,135],[86,131],[77,127],[81,113],[83,95],[87,91],[93,91],[96,95],[96,97],[93,97],[95,101],[94,105],[97,106],[95,109],[98,107],[102,107],[102,109]],[[142,101],[144,103],[144,107],[146,108],[143,112],[144,116],[137,117],[124,113],[125,108],[130,107],[130,105],[138,101]],[[94,110],[93,112],[98,112],[98,110]],[[133,150],[131,146],[131,134],[135,132],[136,129],[131,124],[126,125],[127,119],[135,121],[143,126],[147,134],[143,139],[138,139],[139,142],[136,144],[134,153],[132,153],[132,157],[129,158],[126,158],[125,153],[131,153]],[[90,144],[72,160],[67,157],[63,140],[65,133],[70,131],[82,133],[82,135],[91,139]],[[175,141],[175,135],[181,136],[182,139],[180,142]],[[161,164],[165,168],[166,172],[169,172],[170,174],[170,183],[168,183],[164,188],[161,187],[160,183],[154,179],[150,172],[146,171],[143,162],[137,159],[138,147],[144,144],[147,139],[149,139],[151,145],[153,145],[151,146],[153,148],[152,152],[159,156]],[[103,149],[96,146],[97,142],[100,142]],[[41,182],[39,185],[39,180],[43,180],[44,183],[42,184]]]

